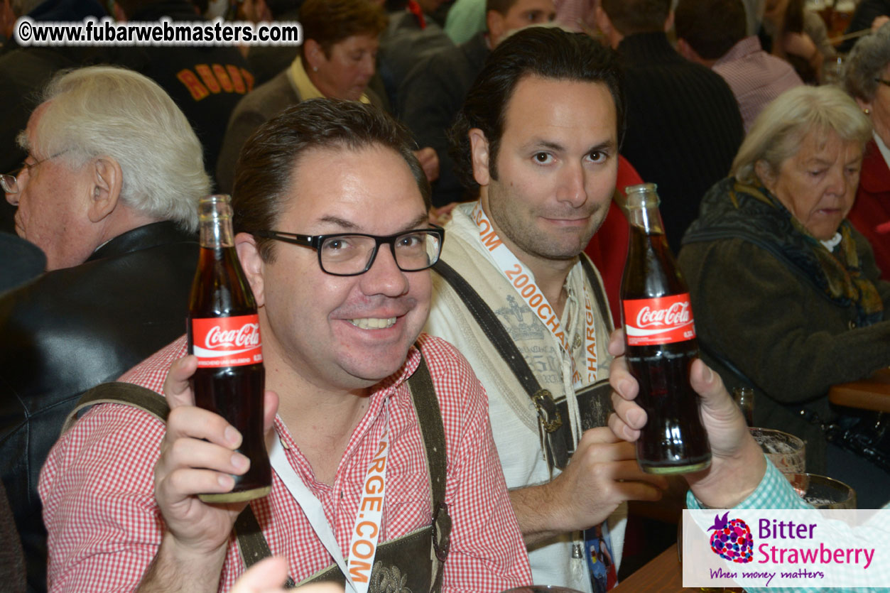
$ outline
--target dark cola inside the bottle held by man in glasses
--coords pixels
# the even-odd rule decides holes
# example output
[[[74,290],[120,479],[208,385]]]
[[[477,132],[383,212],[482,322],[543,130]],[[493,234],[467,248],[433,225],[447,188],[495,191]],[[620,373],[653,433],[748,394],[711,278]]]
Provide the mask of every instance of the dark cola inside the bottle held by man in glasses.
[[[234,248],[201,248],[198,271],[192,283],[189,320],[210,317],[234,317],[256,313],[254,293],[247,283]],[[198,369],[190,378],[195,404],[225,418],[242,436],[239,453],[250,459],[244,475],[233,475],[235,487],[224,494],[201,494],[207,502],[253,500],[269,493],[271,466],[263,440],[263,363]]]

